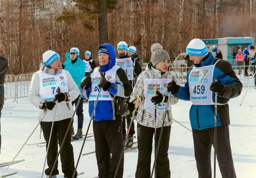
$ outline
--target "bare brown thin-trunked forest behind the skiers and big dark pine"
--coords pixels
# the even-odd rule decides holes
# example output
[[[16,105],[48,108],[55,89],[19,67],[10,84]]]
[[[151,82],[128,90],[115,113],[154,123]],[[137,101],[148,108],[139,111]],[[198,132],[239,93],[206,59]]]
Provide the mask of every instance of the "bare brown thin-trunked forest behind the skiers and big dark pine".
[[[78,47],[81,58],[88,50],[97,61],[98,21],[83,16],[75,4],[72,0],[0,0],[0,55],[8,59],[8,74],[37,71],[47,50],[58,52],[65,61],[65,53]],[[117,0],[107,13],[108,39],[115,48],[119,41],[136,46],[144,62],[149,62],[155,42],[173,57],[184,52],[193,38],[256,37],[255,7],[256,0]],[[57,21],[66,11],[81,16]]]

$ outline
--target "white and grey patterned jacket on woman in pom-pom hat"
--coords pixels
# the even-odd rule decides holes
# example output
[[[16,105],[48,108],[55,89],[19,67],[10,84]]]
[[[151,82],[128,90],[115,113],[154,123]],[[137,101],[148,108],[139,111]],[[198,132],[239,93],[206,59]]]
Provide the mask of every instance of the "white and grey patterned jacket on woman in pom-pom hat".
[[[141,72],[139,77],[137,78],[137,82],[135,84],[134,90],[131,93],[130,101],[132,102],[136,100],[137,96],[140,95],[140,102],[139,102],[139,110],[137,112],[136,121],[140,123],[142,126],[146,127],[155,127],[155,116],[154,114],[147,112],[144,109],[144,81],[147,78],[171,78],[172,80],[176,81],[176,77],[174,72],[166,72],[164,75],[161,75],[161,72],[159,70],[156,70],[154,67],[151,66],[151,63],[147,65],[146,70]],[[179,101],[179,98],[176,96],[171,95],[169,101],[169,106],[174,105]],[[163,125],[163,119],[164,119],[165,112],[157,112],[156,116],[156,127],[162,127]],[[173,116],[171,114],[171,110],[169,109],[166,117],[165,117],[165,124],[164,126],[170,126],[171,123],[173,123]]]

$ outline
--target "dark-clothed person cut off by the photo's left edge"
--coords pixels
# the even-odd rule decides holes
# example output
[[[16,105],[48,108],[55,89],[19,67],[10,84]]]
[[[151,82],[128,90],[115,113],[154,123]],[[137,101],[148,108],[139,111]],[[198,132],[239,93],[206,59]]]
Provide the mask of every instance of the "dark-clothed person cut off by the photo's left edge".
[[[6,72],[8,70],[8,62],[6,58],[0,56],[0,154],[1,154],[1,144],[2,144],[2,137],[1,137],[1,113],[4,104],[4,78],[6,77]]]

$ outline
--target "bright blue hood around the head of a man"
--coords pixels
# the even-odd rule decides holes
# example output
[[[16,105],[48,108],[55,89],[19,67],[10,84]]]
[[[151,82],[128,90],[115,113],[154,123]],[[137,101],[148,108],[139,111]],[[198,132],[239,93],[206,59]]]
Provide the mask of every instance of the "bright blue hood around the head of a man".
[[[100,66],[101,71],[106,72],[116,65],[116,52],[115,52],[115,48],[109,43],[101,44],[99,46],[99,50],[101,48],[106,48],[107,51],[109,52],[109,63],[105,66]]]

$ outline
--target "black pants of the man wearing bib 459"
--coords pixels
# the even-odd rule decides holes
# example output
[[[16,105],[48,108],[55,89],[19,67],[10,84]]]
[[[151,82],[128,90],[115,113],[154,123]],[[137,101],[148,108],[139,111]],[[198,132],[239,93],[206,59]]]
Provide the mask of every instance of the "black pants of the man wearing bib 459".
[[[196,167],[198,177],[211,178],[211,145],[214,144],[214,128],[193,129]],[[217,127],[216,157],[221,176],[235,178],[235,169],[229,140],[229,126]]]

